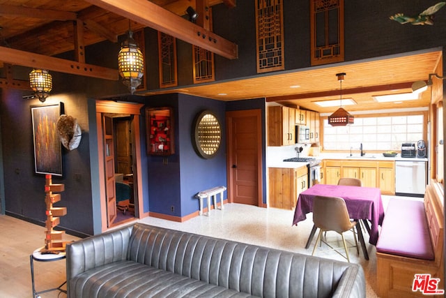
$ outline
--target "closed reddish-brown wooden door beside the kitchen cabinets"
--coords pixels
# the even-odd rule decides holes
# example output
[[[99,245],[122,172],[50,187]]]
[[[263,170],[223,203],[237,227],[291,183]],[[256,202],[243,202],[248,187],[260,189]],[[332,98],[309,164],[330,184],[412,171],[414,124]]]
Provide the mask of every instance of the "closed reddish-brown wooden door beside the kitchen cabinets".
[[[261,110],[226,112],[229,202],[263,206]]]

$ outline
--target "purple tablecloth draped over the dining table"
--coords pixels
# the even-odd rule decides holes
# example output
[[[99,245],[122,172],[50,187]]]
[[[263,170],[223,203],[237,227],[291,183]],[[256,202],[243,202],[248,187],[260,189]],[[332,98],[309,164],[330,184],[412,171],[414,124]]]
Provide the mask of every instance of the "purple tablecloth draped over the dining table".
[[[378,225],[383,223],[384,218],[383,201],[379,188],[316,184],[300,193],[294,211],[293,225],[304,221],[307,218],[306,214],[313,211],[313,199],[316,195],[343,198],[346,201],[350,218],[371,221],[369,243],[376,245]]]

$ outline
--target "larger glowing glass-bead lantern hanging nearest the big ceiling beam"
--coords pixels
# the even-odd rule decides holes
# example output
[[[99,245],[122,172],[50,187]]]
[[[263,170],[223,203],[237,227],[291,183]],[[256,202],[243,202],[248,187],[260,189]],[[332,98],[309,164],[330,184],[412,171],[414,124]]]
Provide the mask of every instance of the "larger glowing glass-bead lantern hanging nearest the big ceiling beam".
[[[141,77],[144,75],[144,56],[130,30],[128,38],[121,44],[121,50],[118,53],[118,70],[123,83],[133,94],[141,84]]]

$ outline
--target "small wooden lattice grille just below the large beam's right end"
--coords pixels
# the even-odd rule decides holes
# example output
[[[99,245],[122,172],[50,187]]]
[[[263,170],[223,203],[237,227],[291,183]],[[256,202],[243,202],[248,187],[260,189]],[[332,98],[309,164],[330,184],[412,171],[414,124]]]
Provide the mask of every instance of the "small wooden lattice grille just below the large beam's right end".
[[[194,84],[215,81],[214,53],[197,45],[194,51]]]

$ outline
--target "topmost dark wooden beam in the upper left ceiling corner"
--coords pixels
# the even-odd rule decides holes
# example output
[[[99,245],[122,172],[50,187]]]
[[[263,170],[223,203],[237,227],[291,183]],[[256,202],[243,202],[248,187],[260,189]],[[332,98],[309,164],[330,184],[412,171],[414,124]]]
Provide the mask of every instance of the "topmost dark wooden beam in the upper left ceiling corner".
[[[13,15],[17,17],[33,17],[45,20],[76,20],[76,13],[70,11],[50,10],[40,8],[29,8],[24,6],[13,6],[0,4],[0,15]]]

